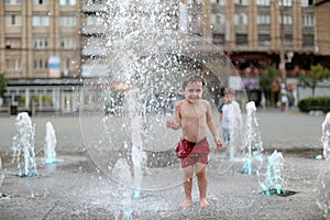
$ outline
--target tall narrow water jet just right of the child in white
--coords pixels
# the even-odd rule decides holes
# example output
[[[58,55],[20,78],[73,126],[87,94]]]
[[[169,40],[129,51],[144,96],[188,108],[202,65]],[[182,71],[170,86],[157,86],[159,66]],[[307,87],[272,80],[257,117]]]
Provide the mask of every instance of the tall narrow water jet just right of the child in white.
[[[258,122],[255,117],[256,107],[254,101],[246,103],[246,128],[243,140],[243,148],[246,152],[248,161],[244,163],[244,174],[252,174],[252,161],[263,162],[263,142],[258,131]]]

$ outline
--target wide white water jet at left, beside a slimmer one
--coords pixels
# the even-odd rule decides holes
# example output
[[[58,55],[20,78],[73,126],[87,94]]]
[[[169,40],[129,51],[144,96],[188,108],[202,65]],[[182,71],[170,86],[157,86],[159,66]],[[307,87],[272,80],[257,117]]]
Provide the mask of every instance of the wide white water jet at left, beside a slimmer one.
[[[34,133],[35,125],[26,112],[21,112],[15,121],[18,134],[13,136],[12,151],[13,163],[18,163],[19,176],[37,176],[35,153],[34,153]],[[21,154],[23,154],[24,173],[22,174]]]

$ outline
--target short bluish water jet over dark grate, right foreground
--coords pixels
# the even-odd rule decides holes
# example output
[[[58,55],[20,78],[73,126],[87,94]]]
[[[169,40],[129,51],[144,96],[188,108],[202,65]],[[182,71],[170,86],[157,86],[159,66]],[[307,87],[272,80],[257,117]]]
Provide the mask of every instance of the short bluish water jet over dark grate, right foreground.
[[[282,193],[284,178],[282,176],[284,169],[284,158],[280,152],[276,150],[271,156],[268,156],[266,174],[264,175],[264,182],[258,182],[262,189],[266,195],[272,194],[272,189],[276,189],[276,194]],[[257,172],[257,176],[262,175]]]

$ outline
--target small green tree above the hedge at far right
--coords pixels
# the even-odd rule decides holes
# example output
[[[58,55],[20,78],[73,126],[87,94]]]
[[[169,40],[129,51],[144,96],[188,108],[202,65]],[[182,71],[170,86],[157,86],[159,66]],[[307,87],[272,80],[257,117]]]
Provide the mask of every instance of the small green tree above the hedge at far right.
[[[306,76],[300,76],[299,86],[311,88],[312,97],[319,81],[330,77],[330,70],[321,64],[310,67],[310,72]]]

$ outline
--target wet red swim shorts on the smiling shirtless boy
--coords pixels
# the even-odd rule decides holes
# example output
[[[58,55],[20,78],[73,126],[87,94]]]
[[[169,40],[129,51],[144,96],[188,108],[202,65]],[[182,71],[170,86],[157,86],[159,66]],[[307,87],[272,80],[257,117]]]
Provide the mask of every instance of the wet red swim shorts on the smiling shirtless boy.
[[[182,158],[182,167],[185,168],[187,166],[194,165],[196,163],[208,163],[208,154],[210,153],[210,145],[207,141],[207,138],[204,138],[201,141],[194,143],[189,142],[185,139],[180,141],[180,144],[187,147],[193,147],[190,154]]]

